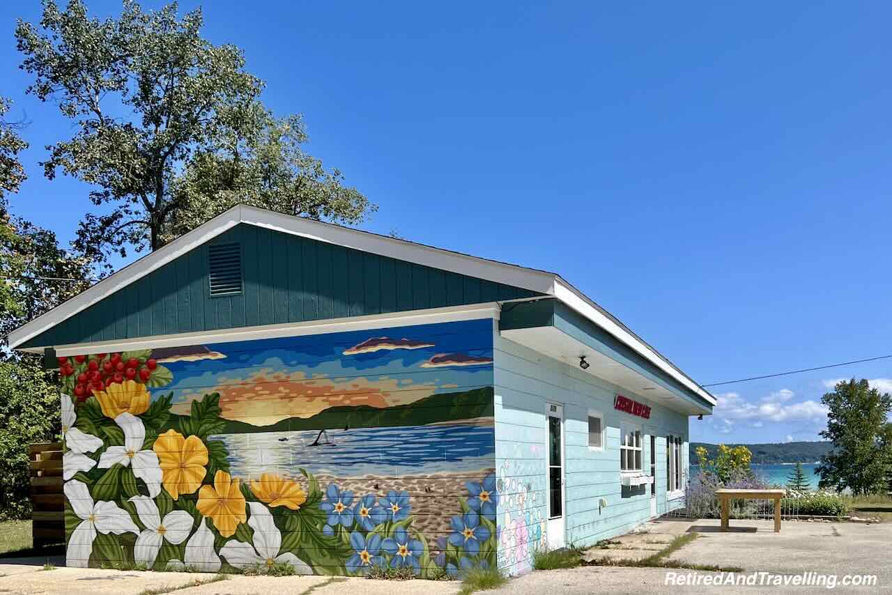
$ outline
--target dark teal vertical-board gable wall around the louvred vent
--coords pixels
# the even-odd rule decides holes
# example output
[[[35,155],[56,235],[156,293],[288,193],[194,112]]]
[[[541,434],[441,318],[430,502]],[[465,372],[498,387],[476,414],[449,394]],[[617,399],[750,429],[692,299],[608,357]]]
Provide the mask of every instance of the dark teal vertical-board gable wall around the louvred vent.
[[[211,297],[208,245],[242,245],[244,289]],[[45,347],[347,318],[537,293],[247,224],[24,343]]]

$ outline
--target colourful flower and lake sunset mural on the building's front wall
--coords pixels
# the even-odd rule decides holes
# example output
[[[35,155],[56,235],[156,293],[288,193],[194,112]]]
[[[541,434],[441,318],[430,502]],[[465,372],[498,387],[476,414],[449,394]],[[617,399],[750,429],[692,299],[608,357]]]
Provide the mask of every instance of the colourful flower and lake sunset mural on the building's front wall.
[[[68,565],[494,566],[491,329],[60,358]]]

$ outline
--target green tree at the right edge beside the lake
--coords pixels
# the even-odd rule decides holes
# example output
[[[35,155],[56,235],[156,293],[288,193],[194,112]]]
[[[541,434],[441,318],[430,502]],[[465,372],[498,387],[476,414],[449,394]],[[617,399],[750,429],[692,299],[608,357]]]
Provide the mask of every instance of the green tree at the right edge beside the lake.
[[[852,378],[837,384],[821,402],[829,408],[821,435],[833,442],[833,450],[817,468],[820,486],[855,494],[882,490],[892,456],[887,421],[892,396]]]

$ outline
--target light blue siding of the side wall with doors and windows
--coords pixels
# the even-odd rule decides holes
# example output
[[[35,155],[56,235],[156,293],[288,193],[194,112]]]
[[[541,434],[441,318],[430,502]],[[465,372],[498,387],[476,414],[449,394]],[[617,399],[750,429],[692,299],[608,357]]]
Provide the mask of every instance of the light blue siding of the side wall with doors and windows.
[[[657,514],[684,506],[683,497],[666,501],[665,436],[678,434],[688,448],[688,417],[665,409],[640,395],[600,381],[580,369],[549,359],[517,343],[495,338],[495,417],[496,469],[503,485],[530,485],[532,491],[521,501],[512,494],[500,494],[499,519],[531,519],[525,533],[529,540],[527,559],[524,549],[512,544],[500,550],[500,567],[508,574],[529,569],[535,546],[544,547],[545,536],[534,542],[538,519],[547,519],[546,492],[546,419],[547,402],[563,404],[565,418],[566,535],[567,544],[588,546],[596,541],[627,533],[650,517],[649,486],[639,495],[629,495],[620,485],[620,425],[625,421],[641,426],[644,473],[649,473],[649,434],[657,435]],[[643,419],[613,409],[616,393],[651,405],[650,419]],[[588,412],[604,415],[605,448],[588,446]],[[651,430],[651,427],[654,429]],[[682,459],[687,469],[688,459]],[[628,490],[628,489],[626,489]],[[599,500],[607,506],[599,510]],[[501,527],[502,531],[505,527]],[[500,546],[501,548],[501,546]]]

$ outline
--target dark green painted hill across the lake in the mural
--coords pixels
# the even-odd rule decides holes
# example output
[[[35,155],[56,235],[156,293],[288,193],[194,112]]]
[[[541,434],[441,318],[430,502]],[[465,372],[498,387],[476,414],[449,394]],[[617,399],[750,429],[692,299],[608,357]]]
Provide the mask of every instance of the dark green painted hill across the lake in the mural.
[[[340,429],[344,426],[425,426],[436,422],[491,417],[494,415],[492,394],[492,387],[486,386],[463,393],[434,394],[407,405],[384,409],[368,405],[330,407],[312,417],[290,417],[271,426],[252,426],[243,421],[227,420],[219,434],[294,432]]]

